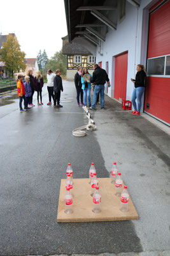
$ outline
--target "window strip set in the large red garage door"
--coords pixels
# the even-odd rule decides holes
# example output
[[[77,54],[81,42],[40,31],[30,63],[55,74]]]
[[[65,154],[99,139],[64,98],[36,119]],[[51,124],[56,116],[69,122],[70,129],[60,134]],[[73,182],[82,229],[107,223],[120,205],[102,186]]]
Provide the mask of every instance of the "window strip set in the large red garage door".
[[[148,76],[170,76],[170,56],[148,59]]]

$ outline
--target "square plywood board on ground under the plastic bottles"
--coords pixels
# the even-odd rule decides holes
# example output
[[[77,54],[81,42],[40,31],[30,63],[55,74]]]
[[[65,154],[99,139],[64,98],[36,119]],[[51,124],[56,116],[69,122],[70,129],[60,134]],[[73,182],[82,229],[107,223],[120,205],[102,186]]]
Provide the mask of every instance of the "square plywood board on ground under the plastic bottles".
[[[72,214],[64,212],[66,180],[61,180],[57,222],[138,220],[138,213],[131,197],[129,196],[129,211],[120,211],[120,196],[115,196],[115,185],[111,184],[110,178],[100,178],[98,180],[101,193],[101,212],[92,212],[89,179],[74,179]]]

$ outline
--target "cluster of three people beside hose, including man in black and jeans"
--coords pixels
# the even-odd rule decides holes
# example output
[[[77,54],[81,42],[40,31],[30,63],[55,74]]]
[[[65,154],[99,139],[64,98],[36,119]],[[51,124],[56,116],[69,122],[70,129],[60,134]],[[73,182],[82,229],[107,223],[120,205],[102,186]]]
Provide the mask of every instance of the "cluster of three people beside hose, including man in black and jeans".
[[[78,72],[74,76],[74,84],[76,86],[77,92],[77,105],[78,106],[87,106],[87,99],[89,102],[90,109],[96,109],[97,97],[99,94],[101,96],[101,109],[104,109],[104,84],[108,83],[108,87],[110,87],[110,79],[108,78],[108,74],[106,70],[100,68],[97,64],[93,65],[94,72],[93,74],[89,74],[87,68],[78,68]],[[84,78],[85,74],[89,74],[90,79],[87,80]],[[90,99],[90,92],[92,85],[94,86],[94,95],[92,99]],[[81,101],[80,101],[81,100]],[[84,103],[83,103],[84,100]]]

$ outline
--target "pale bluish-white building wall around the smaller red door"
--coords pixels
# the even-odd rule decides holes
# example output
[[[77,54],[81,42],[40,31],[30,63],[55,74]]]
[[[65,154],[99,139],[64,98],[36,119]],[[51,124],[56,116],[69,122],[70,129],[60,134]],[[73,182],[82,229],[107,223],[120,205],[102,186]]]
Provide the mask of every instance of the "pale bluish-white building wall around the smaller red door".
[[[139,63],[146,66],[146,50],[148,36],[148,9],[157,1],[143,0],[138,8],[126,1],[125,17],[117,21],[117,30],[108,29],[106,41],[97,47],[96,63],[102,61],[102,67],[106,68],[108,61],[108,76],[111,87],[108,88],[108,95],[114,97],[114,70],[115,58],[118,54],[128,51],[127,66],[127,100],[131,100],[133,83],[131,78],[136,75],[136,65]],[[119,13],[119,12],[118,12]],[[110,15],[113,15],[111,13]],[[119,18],[118,18],[119,19]]]

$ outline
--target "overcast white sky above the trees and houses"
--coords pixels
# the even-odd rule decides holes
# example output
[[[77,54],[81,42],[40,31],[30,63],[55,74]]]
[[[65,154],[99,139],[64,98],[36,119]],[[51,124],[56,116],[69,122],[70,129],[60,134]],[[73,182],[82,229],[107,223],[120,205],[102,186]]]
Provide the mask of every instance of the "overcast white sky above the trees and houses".
[[[50,58],[60,51],[61,38],[67,35],[64,0],[5,0],[1,32],[15,33],[26,58],[36,58],[40,49]]]

